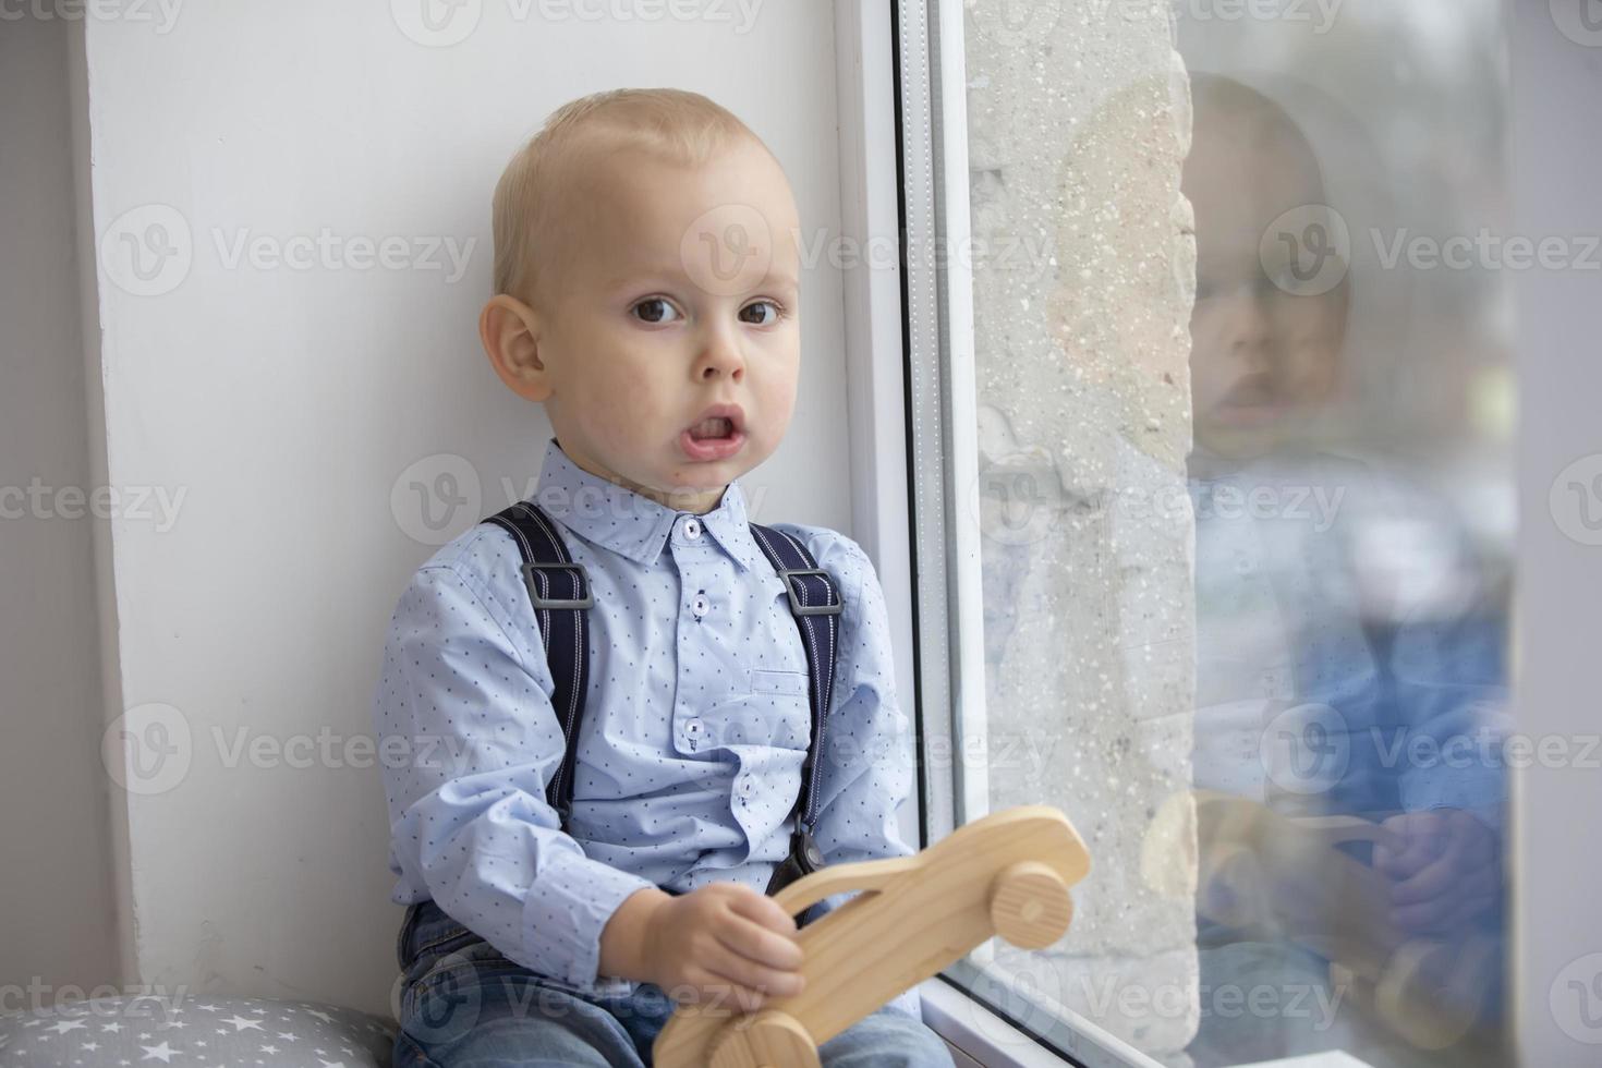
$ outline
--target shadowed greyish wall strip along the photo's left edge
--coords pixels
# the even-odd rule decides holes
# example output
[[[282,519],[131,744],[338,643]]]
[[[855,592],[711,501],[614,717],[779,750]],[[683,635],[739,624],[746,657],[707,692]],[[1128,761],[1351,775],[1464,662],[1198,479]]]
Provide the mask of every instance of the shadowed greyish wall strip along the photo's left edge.
[[[0,1012],[117,978],[70,38],[0,30]]]

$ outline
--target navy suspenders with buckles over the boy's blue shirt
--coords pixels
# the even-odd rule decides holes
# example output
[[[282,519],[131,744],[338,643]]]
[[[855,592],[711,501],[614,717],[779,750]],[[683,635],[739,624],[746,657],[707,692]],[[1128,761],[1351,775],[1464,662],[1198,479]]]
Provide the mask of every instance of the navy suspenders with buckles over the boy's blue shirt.
[[[585,612],[594,605],[590,575],[583,564],[575,564],[567,554],[556,524],[538,504],[517,501],[484,522],[506,530],[522,556],[524,586],[540,626],[540,639],[545,642],[551,681],[556,684],[551,705],[567,745],[561,767],[546,783],[545,796],[566,829],[574,801],[578,724],[590,682],[590,640],[585,624]],[[817,820],[817,780],[822,769],[819,753],[828,719],[828,701],[835,690],[835,647],[839,639],[843,600],[830,573],[819,568],[817,560],[798,538],[772,527],[751,524],[750,528],[763,556],[785,584],[790,613],[801,631],[801,645],[806,650],[807,703],[812,709],[812,733],[806,761],[801,764],[801,794],[796,797],[796,828],[790,834],[790,855],[774,868],[767,884],[767,893],[777,893],[783,885],[823,866],[823,855],[812,841],[812,826]],[[807,914],[812,911],[807,909]],[[803,914],[803,924],[807,914]]]

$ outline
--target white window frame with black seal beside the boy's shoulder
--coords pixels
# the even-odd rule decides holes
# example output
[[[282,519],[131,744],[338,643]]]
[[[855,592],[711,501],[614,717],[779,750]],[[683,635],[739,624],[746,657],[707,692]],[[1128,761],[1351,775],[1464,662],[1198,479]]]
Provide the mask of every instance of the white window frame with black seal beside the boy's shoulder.
[[[937,22],[960,29],[961,2],[936,3]],[[923,0],[897,0],[894,16],[900,19],[900,38],[892,5],[835,3],[841,239],[873,250],[844,272],[847,426],[857,456],[852,528],[875,562],[889,605],[896,676],[904,681],[902,708],[915,717],[923,748],[915,837],[928,845],[956,828],[958,812],[966,820],[984,815],[990,799],[985,767],[961,761],[963,746],[955,735],[958,716],[968,735],[982,733],[985,722],[982,618],[952,610],[982,597],[972,277],[960,258],[937,263],[932,255],[910,253],[904,272],[899,259],[883,263],[883,250],[902,248],[902,181],[908,191],[907,248],[932,253],[936,232],[945,235],[948,247],[961,247],[971,232],[966,157],[939,151],[942,133],[966,144],[966,88],[960,32],[939,40]],[[945,77],[937,80],[936,74]],[[897,138],[905,144],[902,160]],[[912,426],[923,431],[929,424],[934,432],[928,437],[937,442],[945,440],[940,431],[950,428],[950,463],[928,448],[913,453]],[[915,495],[924,504],[923,514],[942,516],[939,524],[913,530]],[[956,775],[942,769],[955,769]],[[953,972],[984,986],[984,958],[976,953],[979,967],[964,962]],[[990,985],[998,986],[993,978]],[[1057,1055],[1043,1036],[1019,1030],[950,978],[929,980],[920,993],[924,1020],[987,1066],[1158,1068],[1067,1010],[1049,1039],[1073,1060]],[[996,1001],[1004,1001],[1004,991],[996,990]]]

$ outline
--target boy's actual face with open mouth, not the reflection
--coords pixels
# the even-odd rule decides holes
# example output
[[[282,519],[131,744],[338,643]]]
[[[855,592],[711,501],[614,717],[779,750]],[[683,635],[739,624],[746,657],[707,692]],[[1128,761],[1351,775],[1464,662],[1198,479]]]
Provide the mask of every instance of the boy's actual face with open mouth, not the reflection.
[[[790,426],[795,200],[748,144],[700,168],[623,152],[596,170],[537,309],[551,426],[582,468],[706,511]]]

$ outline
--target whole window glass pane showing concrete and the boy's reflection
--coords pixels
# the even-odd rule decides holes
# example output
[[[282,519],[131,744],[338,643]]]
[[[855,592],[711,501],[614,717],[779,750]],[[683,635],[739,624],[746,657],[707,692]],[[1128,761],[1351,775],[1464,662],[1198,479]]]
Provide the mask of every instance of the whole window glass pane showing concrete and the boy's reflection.
[[[1171,1065],[1506,1063],[1499,5],[963,16],[987,756],[950,789],[1059,805],[1094,869],[1062,942],[953,975]]]

